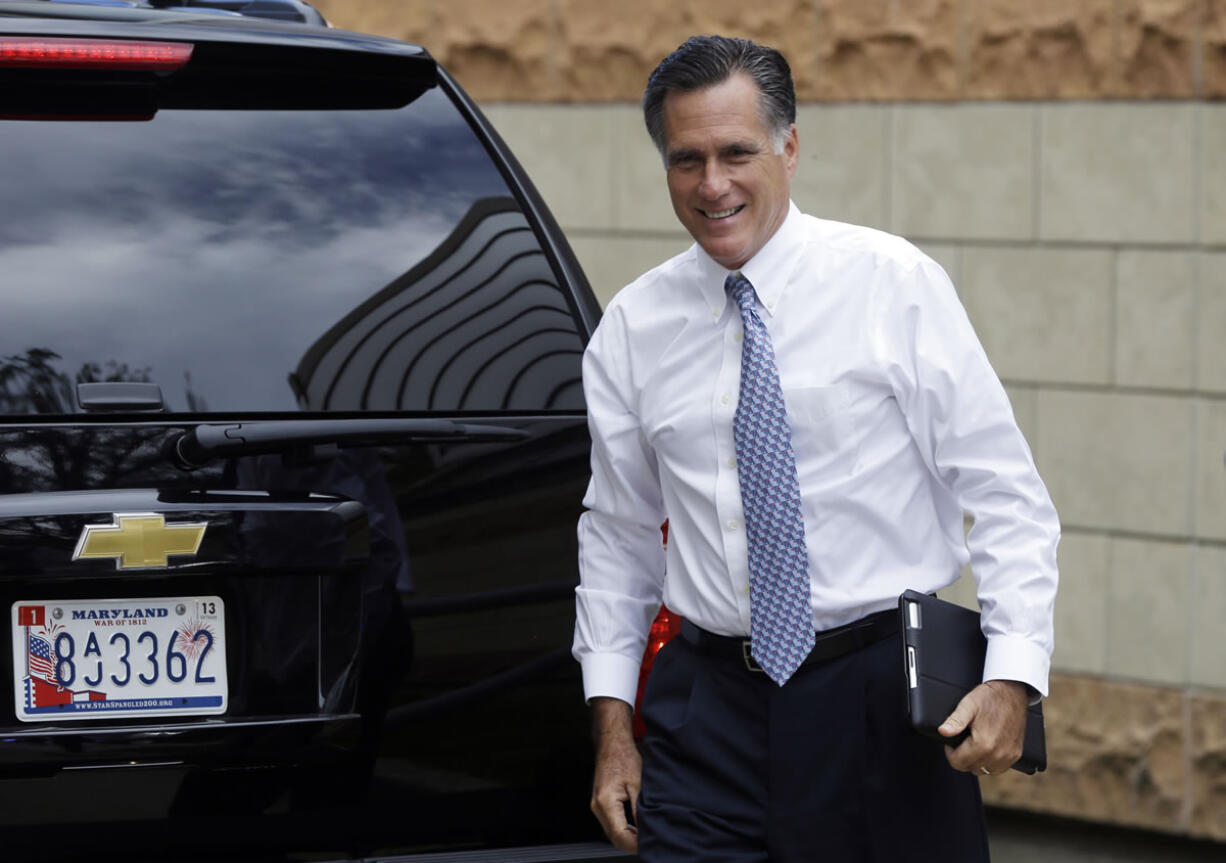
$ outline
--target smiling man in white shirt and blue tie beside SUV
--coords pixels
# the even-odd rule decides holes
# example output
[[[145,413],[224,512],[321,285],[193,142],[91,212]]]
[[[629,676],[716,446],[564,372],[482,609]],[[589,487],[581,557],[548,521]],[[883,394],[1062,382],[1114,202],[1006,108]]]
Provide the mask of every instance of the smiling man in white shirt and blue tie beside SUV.
[[[1018,759],[1046,694],[1059,536],[1008,398],[940,267],[791,203],[777,51],[690,39],[644,112],[695,245],[613,299],[585,357],[592,809],[647,863],[987,859],[977,776]],[[986,683],[942,747],[907,726],[895,609],[967,560]],[[661,599],[685,624],[640,765]]]

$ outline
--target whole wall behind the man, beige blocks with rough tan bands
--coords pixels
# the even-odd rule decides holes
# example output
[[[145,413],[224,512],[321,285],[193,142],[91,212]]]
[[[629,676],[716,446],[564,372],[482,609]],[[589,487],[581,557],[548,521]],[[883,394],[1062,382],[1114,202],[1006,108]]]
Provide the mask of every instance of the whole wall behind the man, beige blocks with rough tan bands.
[[[1051,769],[986,798],[1226,841],[1226,0],[316,4],[456,74],[603,300],[689,244],[650,69],[783,49],[796,201],[950,272],[1060,511]]]

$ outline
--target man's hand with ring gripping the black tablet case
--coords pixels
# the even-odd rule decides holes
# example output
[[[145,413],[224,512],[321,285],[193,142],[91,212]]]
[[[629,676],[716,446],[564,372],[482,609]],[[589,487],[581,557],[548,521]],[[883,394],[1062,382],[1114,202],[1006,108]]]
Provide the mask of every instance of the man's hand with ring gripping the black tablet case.
[[[971,774],[1000,774],[1021,758],[1026,736],[1029,691],[1016,680],[988,680],[966,694],[938,728],[945,737],[970,729],[958,747],[945,747],[954,770]]]

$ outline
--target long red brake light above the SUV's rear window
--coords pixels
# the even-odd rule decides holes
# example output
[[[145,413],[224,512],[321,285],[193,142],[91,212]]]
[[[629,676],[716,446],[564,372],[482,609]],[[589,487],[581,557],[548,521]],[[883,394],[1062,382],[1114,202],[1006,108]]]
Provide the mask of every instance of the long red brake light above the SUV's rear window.
[[[0,66],[169,72],[188,64],[192,48],[185,42],[0,36]]]

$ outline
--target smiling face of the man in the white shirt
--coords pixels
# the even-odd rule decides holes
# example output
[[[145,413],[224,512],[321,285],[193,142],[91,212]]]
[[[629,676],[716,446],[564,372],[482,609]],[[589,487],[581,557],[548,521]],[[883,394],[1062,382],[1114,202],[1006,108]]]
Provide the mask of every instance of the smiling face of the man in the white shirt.
[[[744,74],[664,97],[664,165],[673,211],[728,270],[758,254],[787,216],[799,143],[788,129],[776,153],[758,85]]]

